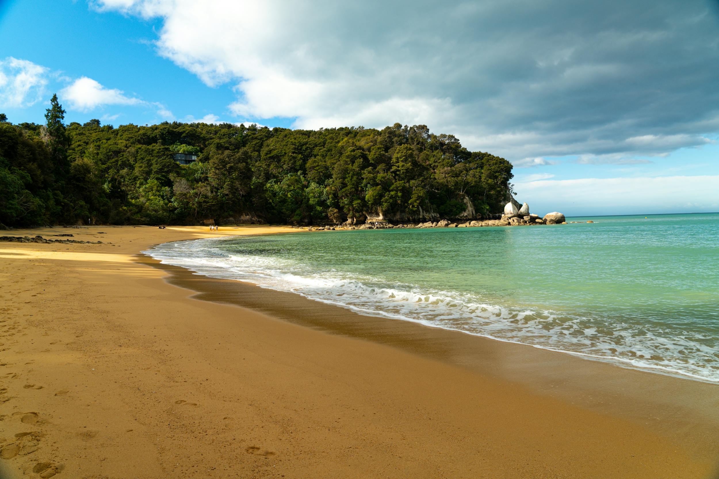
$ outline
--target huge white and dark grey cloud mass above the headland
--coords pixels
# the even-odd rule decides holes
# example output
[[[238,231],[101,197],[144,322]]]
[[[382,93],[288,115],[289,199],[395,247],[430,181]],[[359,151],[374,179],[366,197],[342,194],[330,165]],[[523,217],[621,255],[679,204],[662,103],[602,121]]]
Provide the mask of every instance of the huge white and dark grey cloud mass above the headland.
[[[513,161],[661,155],[719,131],[708,2],[93,4],[160,18],[160,55],[207,85],[231,82],[238,116],[426,124]]]

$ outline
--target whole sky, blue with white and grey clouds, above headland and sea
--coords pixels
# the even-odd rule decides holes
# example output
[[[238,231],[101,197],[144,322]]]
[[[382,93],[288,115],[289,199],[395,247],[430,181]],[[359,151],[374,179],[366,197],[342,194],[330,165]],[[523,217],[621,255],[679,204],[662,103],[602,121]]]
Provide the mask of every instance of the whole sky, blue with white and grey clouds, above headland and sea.
[[[567,215],[719,211],[719,0],[0,0],[0,113],[425,124]]]

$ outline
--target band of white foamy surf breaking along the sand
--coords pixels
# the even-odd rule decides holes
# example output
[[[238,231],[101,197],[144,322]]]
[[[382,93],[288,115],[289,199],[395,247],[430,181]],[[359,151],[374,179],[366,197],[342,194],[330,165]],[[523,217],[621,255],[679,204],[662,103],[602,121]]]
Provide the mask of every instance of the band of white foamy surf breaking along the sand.
[[[418,322],[470,335],[570,353],[620,366],[719,383],[716,338],[677,334],[661,325],[638,326],[611,317],[586,317],[493,304],[472,294],[385,284],[346,271],[317,271],[295,259],[237,255],[223,239],[178,241],[146,254],[205,276],[235,279],[301,294],[362,315]]]

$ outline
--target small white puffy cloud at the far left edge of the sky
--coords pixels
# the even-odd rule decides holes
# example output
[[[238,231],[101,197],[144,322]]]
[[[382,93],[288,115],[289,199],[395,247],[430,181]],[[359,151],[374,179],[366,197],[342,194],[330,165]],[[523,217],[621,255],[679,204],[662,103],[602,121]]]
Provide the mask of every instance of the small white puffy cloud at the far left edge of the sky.
[[[28,60],[0,60],[0,106],[24,108],[41,101],[47,73],[47,68]]]

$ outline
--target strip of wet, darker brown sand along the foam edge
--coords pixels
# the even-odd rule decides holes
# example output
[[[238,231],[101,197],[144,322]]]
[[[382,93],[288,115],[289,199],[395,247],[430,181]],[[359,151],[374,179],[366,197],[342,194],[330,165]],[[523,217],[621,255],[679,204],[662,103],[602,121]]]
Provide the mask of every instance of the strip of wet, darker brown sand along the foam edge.
[[[710,437],[719,432],[719,412],[712,413],[718,390],[716,383],[710,381],[624,368],[611,361],[587,360],[561,350],[472,335],[420,322],[360,315],[348,308],[301,294],[264,288],[236,279],[214,278],[182,266],[162,264],[145,253],[139,255],[138,261],[168,273],[165,281],[169,284],[196,292],[193,299],[249,308],[303,327],[388,345],[413,355],[467,368],[482,376],[518,383],[535,394],[559,397],[600,414],[650,425],[656,432],[674,436],[691,446],[696,445],[696,437]],[[441,348],[436,348],[436,345],[441,345]],[[501,359],[498,361],[495,358]],[[647,391],[652,391],[652,397],[645,397]],[[682,393],[679,401],[674,397],[677,391]],[[627,403],[633,404],[631,410],[626,409]],[[695,414],[697,412],[700,414]],[[656,420],[662,415],[662,419],[667,420],[665,424],[652,424],[654,421],[650,419]],[[677,431],[688,432],[685,428],[688,422],[697,424],[691,434],[676,434]],[[707,457],[712,456],[719,457],[719,446],[707,452]]]

